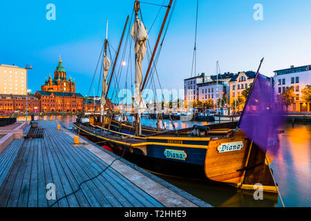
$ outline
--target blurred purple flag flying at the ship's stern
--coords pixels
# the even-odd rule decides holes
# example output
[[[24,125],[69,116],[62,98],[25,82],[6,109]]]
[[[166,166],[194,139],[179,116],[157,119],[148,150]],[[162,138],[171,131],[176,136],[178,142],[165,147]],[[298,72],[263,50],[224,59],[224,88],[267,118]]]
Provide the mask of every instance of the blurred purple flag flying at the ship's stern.
[[[249,93],[238,125],[263,151],[275,156],[279,149],[278,128],[283,123],[283,105],[275,99],[271,82],[261,74]]]

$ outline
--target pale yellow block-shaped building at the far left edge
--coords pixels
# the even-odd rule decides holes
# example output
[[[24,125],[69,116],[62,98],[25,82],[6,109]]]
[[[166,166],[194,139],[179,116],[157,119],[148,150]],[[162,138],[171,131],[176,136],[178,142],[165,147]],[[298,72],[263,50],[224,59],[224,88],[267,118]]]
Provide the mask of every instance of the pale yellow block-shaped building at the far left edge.
[[[27,70],[18,66],[1,64],[0,94],[26,95]]]

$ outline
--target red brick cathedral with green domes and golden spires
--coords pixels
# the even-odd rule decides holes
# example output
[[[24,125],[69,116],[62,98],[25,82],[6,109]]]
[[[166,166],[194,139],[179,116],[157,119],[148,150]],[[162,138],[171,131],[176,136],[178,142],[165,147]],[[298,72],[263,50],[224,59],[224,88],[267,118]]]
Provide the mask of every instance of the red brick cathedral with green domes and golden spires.
[[[72,80],[71,77],[67,80],[66,75],[67,73],[62,65],[62,59],[59,59],[58,66],[54,72],[54,78],[48,77],[46,83],[41,86],[41,90],[75,93],[75,80]]]

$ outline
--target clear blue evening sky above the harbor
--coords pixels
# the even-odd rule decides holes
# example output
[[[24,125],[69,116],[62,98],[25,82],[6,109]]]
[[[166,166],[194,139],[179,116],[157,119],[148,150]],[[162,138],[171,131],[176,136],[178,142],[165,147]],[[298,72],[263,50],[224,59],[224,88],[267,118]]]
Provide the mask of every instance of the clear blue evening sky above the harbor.
[[[49,73],[54,76],[62,55],[77,92],[86,95],[104,41],[106,19],[109,41],[117,48],[133,2],[2,0],[0,64],[32,64],[28,88],[35,93]],[[48,3],[56,6],[56,21],[46,19]],[[253,18],[256,3],[263,5],[263,21]],[[268,76],[290,65],[311,64],[310,0],[200,0],[199,6],[197,73],[214,74],[216,61],[220,61],[222,73],[256,70],[261,57],[265,57],[261,73]],[[159,7],[142,4],[141,8],[148,29]],[[150,32],[152,48],[164,10]],[[157,66],[162,88],[182,89],[183,79],[191,77],[195,17],[196,0],[178,0]]]

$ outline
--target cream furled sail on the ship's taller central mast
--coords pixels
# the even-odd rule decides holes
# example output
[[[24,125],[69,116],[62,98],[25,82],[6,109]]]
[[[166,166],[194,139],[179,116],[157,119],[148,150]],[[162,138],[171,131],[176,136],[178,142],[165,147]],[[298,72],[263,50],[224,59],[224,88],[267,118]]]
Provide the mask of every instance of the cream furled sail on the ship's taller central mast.
[[[142,61],[147,52],[148,33],[142,21],[138,19],[138,16],[136,16],[133,23],[131,36],[133,37],[133,41],[135,41],[135,92],[133,100],[135,113],[138,114],[137,120],[140,124],[140,114],[146,108],[142,93],[140,92],[140,87],[142,86]]]

